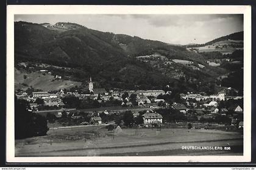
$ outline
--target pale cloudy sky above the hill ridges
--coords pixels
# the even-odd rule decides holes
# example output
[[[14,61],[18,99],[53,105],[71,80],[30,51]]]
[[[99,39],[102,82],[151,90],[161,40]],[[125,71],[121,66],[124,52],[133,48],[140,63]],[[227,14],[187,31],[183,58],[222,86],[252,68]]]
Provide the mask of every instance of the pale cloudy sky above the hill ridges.
[[[89,29],[139,36],[170,44],[204,44],[243,31],[243,15],[15,15],[15,21],[73,22]]]

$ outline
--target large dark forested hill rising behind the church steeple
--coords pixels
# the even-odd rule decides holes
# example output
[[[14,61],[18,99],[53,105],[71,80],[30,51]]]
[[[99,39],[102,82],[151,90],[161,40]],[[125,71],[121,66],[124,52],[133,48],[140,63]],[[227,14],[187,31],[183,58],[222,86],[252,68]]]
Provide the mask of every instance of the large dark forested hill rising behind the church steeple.
[[[152,55],[150,60],[139,57]],[[204,86],[228,73],[225,68],[208,66],[204,55],[183,46],[100,32],[69,22],[54,25],[15,22],[15,67],[29,70],[18,66],[19,63],[27,63],[32,67],[37,63],[49,64],[51,72],[62,75],[65,83],[50,82],[51,77],[48,76],[44,77],[45,81],[38,82],[34,82],[37,79],[24,82],[22,79],[17,80],[18,84],[29,86],[47,82],[45,85],[49,88],[63,87],[66,81],[71,81],[67,82],[69,85],[75,81],[84,86],[93,77],[96,87],[106,89],[163,89],[166,84],[180,89],[179,84],[185,78],[188,84],[183,83],[183,90],[199,90],[200,87],[191,84],[201,82]]]

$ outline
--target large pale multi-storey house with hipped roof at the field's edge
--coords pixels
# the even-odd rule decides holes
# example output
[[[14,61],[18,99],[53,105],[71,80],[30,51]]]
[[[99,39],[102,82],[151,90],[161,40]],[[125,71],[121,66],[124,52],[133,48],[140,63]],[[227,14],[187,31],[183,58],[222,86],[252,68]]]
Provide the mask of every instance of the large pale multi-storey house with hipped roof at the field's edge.
[[[162,124],[163,117],[162,115],[154,112],[153,110],[148,110],[145,114],[142,115],[144,124]]]

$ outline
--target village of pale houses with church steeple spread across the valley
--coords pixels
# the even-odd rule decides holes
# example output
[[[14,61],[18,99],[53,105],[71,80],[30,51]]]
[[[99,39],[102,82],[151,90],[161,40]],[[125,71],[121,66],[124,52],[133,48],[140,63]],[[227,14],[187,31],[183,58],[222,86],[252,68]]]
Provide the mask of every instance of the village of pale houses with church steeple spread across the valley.
[[[119,123],[126,126],[163,126],[170,122],[218,123],[243,128],[243,100],[240,96],[227,96],[231,87],[222,88],[216,95],[179,94],[171,102],[171,91],[164,90],[105,90],[88,82],[89,94],[80,94],[60,89],[57,92],[39,91],[27,94],[20,91],[19,99],[29,102],[29,111],[43,115],[48,123],[59,121],[59,126],[81,124]],[[235,101],[235,103],[234,103]],[[80,103],[80,105],[77,105]],[[81,107],[81,105],[83,107]],[[85,105],[85,106],[84,106]],[[163,111],[165,110],[165,111]],[[126,112],[132,114],[133,120],[124,123],[121,120]],[[162,115],[163,114],[165,115]],[[169,113],[166,115],[166,112]],[[169,118],[169,115],[179,114]],[[181,117],[181,118],[180,118]],[[66,120],[69,118],[69,120]],[[68,122],[68,123],[67,123]],[[56,125],[55,125],[56,126]]]

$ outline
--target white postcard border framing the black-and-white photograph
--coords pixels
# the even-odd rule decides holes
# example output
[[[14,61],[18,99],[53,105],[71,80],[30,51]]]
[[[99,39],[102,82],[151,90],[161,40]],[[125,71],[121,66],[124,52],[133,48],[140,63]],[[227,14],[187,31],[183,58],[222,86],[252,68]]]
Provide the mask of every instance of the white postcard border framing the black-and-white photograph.
[[[15,157],[15,14],[244,14],[244,152],[242,156]],[[7,162],[248,162],[251,161],[251,6],[249,5],[8,5]]]

